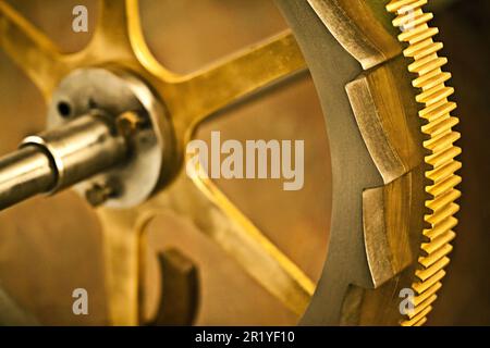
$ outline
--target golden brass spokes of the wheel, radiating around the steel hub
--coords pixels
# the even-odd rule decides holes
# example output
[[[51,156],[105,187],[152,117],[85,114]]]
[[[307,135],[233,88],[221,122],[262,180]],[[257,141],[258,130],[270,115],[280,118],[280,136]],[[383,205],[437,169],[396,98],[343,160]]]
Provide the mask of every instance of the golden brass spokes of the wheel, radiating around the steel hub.
[[[180,141],[179,153],[205,117],[305,69],[299,48],[286,32],[201,71],[174,74],[161,66],[146,46],[136,0],[101,0],[91,41],[82,51],[70,54],[60,52],[44,34],[1,1],[0,47],[32,78],[47,102],[60,80],[74,69],[117,65],[131,70],[163,100]],[[314,291],[311,281],[216,186],[208,181],[192,183],[181,172],[170,187],[138,209],[98,210],[105,236],[112,324],[139,322],[142,233],[151,216],[162,209],[189,215],[266,289],[293,312],[303,312]]]

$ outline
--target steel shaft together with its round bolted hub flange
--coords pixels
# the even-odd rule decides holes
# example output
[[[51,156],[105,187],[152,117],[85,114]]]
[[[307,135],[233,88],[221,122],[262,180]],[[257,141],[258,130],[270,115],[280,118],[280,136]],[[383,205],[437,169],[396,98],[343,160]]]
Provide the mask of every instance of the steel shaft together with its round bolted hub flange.
[[[173,139],[163,107],[137,78],[75,71],[51,100],[48,130],[0,160],[0,208],[74,185],[94,206],[134,207],[170,179],[162,167],[175,158]]]

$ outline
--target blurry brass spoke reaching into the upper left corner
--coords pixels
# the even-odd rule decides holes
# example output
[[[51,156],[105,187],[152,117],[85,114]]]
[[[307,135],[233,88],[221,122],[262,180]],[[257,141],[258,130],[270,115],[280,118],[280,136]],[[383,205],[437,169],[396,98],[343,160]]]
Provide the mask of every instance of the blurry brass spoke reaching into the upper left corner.
[[[4,1],[0,1],[0,48],[50,98],[68,71],[56,45]]]

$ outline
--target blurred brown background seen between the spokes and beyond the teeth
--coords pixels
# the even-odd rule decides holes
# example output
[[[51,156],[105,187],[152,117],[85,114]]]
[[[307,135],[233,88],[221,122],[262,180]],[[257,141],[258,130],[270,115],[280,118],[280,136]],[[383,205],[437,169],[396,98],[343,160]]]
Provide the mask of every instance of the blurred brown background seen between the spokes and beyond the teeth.
[[[64,51],[77,51],[96,25],[96,1],[10,0]],[[157,59],[176,72],[195,71],[287,26],[271,0],[142,0],[142,23]],[[84,4],[89,33],[71,29],[71,11]],[[449,275],[429,316],[431,325],[490,325],[490,1],[433,0],[456,88],[464,178],[461,223]],[[27,134],[44,128],[40,94],[0,50],[0,156]],[[245,121],[246,120],[246,121]],[[244,126],[245,125],[245,126]],[[305,139],[305,188],[285,192],[270,181],[217,184],[255,224],[316,281],[330,225],[330,158],[323,117],[308,74],[260,98],[216,115],[199,129],[221,130],[238,140]],[[60,213],[62,212],[62,214]],[[192,256],[203,275],[198,324],[294,324],[297,318],[256,285],[182,216],[162,213],[148,227],[148,312],[156,308],[159,281],[155,254],[176,247]],[[107,323],[101,237],[90,208],[65,192],[39,198],[0,214],[0,284],[42,324]],[[75,316],[72,290],[90,296],[90,315]]]

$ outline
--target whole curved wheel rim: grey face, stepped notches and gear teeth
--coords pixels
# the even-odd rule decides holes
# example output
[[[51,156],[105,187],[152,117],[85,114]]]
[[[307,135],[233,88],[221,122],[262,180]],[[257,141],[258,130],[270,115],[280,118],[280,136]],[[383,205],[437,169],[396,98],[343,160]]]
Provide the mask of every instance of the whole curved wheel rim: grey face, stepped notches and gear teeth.
[[[394,25],[415,26],[415,29],[400,35],[399,39],[416,45],[424,39],[430,40],[430,36],[437,33],[426,24],[431,16],[420,10],[426,2],[392,1],[388,5],[390,11],[404,7],[404,10],[412,10],[401,13],[393,21]],[[431,234],[422,223],[425,207],[431,208],[431,204],[436,209],[433,215],[425,216],[432,226],[436,225],[437,236],[448,235],[446,240],[451,240],[454,234],[444,231],[454,226],[451,215],[457,211],[453,201],[457,199],[458,191],[452,188],[460,182],[454,175],[458,169],[457,162],[452,161],[458,153],[457,148],[452,147],[457,134],[450,129],[454,124],[449,115],[453,103],[446,99],[452,89],[443,86],[449,74],[439,70],[438,62],[443,63],[443,60],[433,53],[433,50],[440,49],[439,45],[426,40],[426,46],[420,44],[404,51],[405,55],[415,54],[416,58],[408,70],[428,75],[409,86],[411,78],[402,70],[405,63],[392,59],[401,53],[402,46],[394,41],[390,34],[392,30],[382,26],[387,22],[383,1],[370,3],[373,13],[383,20],[368,22],[359,20],[359,16],[366,20],[364,13],[367,11],[367,4],[362,1],[311,0],[309,3],[313,9],[299,1],[280,2],[290,25],[296,28],[296,37],[317,84],[332,144],[332,236],[323,277],[303,321],[307,324],[402,322],[396,308],[397,294],[413,283],[419,296],[415,299],[415,311],[403,324],[424,324],[437,298],[434,293],[441,286],[440,279],[444,276],[442,268],[449,261],[445,254],[451,251],[448,245],[432,244],[433,257],[429,254],[427,259],[418,259],[429,261],[424,266],[426,271],[417,270],[415,261],[418,258],[417,248],[425,240],[422,234]],[[378,4],[382,12],[376,12]],[[318,20],[348,54],[336,59],[332,39],[330,41],[334,44],[331,46],[326,45],[328,38],[322,38],[323,45],[318,45],[318,37],[326,36],[321,34]],[[308,23],[307,29],[305,23]],[[364,72],[354,59],[362,64]],[[347,67],[350,61],[351,69],[342,70],[341,66]],[[336,88],[332,88],[335,77],[340,82]],[[416,97],[413,87],[422,87],[425,83],[429,87]],[[344,88],[350,102],[344,101],[345,107],[341,111],[338,105],[345,98],[342,95]],[[442,135],[424,141],[419,129],[421,127],[424,132],[430,126],[422,126],[421,121],[411,117],[417,113],[415,101],[429,103],[421,115],[437,113],[433,116],[437,122],[443,117],[442,123],[446,126],[441,130]],[[358,132],[362,137],[358,137]],[[421,144],[425,147],[440,144],[436,148],[442,152],[425,158]],[[357,153],[353,152],[355,149],[358,149]],[[446,152],[452,154],[445,156]],[[352,161],[354,158],[356,160]],[[452,184],[441,182],[438,187],[444,189],[438,191],[440,198],[430,200],[428,206],[425,203],[426,189],[430,191],[431,186],[426,186],[424,162],[429,161],[431,170],[428,173],[433,175],[438,167],[444,167],[445,162],[438,161],[439,158],[446,158],[450,162],[448,170],[442,172],[446,178],[444,182]],[[359,220],[363,220],[363,225],[358,224]],[[422,249],[427,246],[422,244]]]

